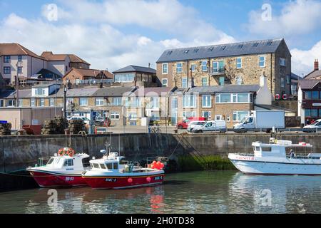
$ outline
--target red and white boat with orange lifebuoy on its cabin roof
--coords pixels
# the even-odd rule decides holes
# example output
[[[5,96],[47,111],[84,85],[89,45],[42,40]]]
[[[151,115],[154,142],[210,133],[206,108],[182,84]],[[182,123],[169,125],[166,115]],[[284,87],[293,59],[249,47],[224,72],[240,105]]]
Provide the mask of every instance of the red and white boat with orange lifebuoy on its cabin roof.
[[[58,150],[44,166],[28,167],[26,171],[34,177],[40,187],[79,187],[86,186],[81,173],[86,170],[89,155],[75,154],[71,148]]]

